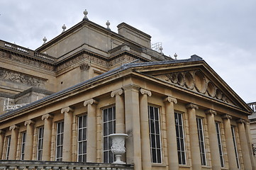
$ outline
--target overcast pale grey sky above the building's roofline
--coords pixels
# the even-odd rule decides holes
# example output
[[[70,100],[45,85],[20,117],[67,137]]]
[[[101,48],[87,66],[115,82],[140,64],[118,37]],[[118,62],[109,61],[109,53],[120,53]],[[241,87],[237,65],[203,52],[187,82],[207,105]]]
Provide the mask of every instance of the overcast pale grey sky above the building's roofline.
[[[35,50],[82,21],[117,33],[125,22],[162,42],[165,55],[202,57],[247,103],[256,101],[255,0],[1,0],[0,39]]]

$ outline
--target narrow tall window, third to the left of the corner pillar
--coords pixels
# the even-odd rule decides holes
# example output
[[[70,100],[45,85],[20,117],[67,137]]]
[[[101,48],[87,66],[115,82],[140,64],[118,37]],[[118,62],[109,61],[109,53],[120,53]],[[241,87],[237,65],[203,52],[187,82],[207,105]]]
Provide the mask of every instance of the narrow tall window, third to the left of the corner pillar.
[[[64,122],[57,123],[56,161],[62,161]]]

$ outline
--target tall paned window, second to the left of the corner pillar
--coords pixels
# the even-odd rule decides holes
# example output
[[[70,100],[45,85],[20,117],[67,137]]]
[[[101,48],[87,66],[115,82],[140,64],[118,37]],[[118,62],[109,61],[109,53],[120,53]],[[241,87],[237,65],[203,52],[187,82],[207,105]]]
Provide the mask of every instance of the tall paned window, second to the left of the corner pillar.
[[[87,115],[78,117],[78,162],[87,162]]]

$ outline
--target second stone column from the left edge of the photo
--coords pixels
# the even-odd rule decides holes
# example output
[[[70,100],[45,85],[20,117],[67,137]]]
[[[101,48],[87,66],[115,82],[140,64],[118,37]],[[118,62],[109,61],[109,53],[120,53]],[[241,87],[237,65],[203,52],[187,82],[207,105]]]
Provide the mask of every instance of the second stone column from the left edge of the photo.
[[[9,154],[9,160],[15,160],[16,159],[16,153],[17,153],[17,145],[18,145],[18,126],[12,125],[10,127],[11,130],[11,145],[10,145],[10,154]]]

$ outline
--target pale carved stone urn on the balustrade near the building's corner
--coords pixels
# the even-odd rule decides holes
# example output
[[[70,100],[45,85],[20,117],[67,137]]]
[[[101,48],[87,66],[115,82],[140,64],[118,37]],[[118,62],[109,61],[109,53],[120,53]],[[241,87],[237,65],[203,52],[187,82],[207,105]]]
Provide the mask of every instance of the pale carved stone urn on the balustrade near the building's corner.
[[[128,135],[123,133],[115,133],[109,135],[109,137],[112,139],[111,152],[116,156],[116,161],[113,162],[113,164],[126,164],[126,162],[121,161],[121,154],[126,153],[126,147],[124,145]]]

